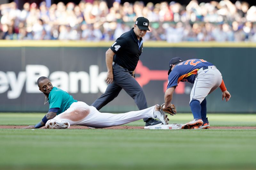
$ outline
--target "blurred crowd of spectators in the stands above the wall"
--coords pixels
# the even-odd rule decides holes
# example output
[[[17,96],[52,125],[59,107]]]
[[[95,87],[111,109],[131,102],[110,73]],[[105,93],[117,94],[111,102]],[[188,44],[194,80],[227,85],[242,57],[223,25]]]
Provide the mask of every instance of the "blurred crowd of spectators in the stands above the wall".
[[[229,0],[187,5],[177,2],[133,4],[105,1],[39,5],[0,5],[0,39],[113,41],[129,31],[137,17],[150,21],[144,40],[256,42],[256,6]]]

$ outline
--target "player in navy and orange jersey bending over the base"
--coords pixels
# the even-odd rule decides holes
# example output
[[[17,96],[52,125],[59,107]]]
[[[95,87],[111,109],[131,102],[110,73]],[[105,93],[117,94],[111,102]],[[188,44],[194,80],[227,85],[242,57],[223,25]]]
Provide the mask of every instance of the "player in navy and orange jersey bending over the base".
[[[180,57],[172,58],[169,62],[168,85],[164,94],[164,110],[172,101],[172,94],[180,81],[194,84],[190,93],[190,108],[194,119],[182,126],[182,129],[208,129],[210,124],[206,117],[205,97],[220,87],[223,98],[228,101],[231,97],[222,80],[220,71],[210,62],[203,59],[182,61]]]

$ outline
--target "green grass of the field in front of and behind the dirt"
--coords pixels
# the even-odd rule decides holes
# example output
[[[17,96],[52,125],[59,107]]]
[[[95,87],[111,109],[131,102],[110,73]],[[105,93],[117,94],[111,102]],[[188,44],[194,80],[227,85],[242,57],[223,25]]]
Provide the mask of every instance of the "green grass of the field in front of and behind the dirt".
[[[43,116],[0,114],[0,125]],[[185,123],[192,114],[170,118]],[[211,126],[256,126],[256,114],[208,118]],[[256,169],[255,156],[256,129],[0,129],[0,169]]]

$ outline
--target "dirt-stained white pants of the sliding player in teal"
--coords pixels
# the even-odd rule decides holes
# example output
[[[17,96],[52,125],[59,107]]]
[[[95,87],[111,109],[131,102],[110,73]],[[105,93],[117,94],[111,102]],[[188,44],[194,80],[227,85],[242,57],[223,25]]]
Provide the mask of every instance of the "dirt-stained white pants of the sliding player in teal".
[[[69,122],[70,125],[83,125],[93,128],[106,128],[123,125],[143,118],[154,118],[155,106],[122,114],[100,113],[95,107],[82,101],[74,102],[54,120]]]

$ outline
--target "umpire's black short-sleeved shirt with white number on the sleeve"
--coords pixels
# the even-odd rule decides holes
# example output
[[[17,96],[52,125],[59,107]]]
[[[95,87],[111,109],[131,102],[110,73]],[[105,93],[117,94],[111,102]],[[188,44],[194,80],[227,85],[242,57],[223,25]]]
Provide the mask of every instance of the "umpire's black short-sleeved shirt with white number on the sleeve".
[[[133,28],[123,33],[110,47],[115,53],[113,61],[129,71],[135,70],[142,48],[143,40],[142,38],[140,38],[140,41],[137,39]]]

